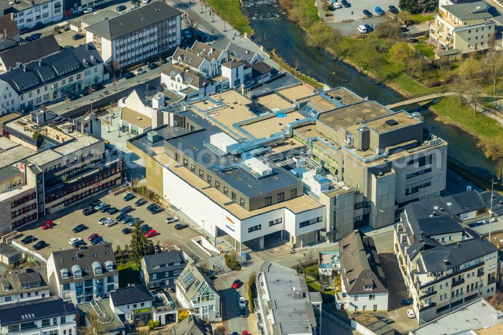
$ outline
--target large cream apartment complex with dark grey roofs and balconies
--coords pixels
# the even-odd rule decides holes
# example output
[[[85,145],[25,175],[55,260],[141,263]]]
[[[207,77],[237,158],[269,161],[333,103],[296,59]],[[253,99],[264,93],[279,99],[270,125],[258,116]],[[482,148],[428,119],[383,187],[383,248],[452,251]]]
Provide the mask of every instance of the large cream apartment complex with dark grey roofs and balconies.
[[[485,217],[489,204],[482,199],[490,202],[488,193],[469,191],[404,207],[394,251],[418,320],[431,321],[494,294],[498,249],[468,226]]]

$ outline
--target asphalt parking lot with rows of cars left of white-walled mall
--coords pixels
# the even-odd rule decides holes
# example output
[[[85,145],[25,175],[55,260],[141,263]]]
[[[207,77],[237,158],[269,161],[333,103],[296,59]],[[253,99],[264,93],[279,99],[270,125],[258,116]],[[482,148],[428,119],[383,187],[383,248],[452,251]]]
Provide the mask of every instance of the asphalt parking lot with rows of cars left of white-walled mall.
[[[175,224],[181,222],[175,222],[171,224],[167,224],[165,222],[166,217],[172,216],[167,212],[160,212],[158,214],[150,214],[147,211],[146,207],[148,203],[142,205],[140,207],[136,207],[134,202],[138,200],[138,198],[134,198],[130,201],[124,201],[123,198],[127,193],[121,193],[116,196],[109,195],[107,193],[102,193],[101,197],[91,197],[90,199],[82,202],[81,204],[75,205],[72,207],[73,210],[61,211],[57,214],[50,214],[47,218],[40,220],[36,223],[28,225],[19,229],[19,231],[23,234],[20,238],[24,238],[27,235],[33,235],[38,238],[38,240],[44,240],[49,245],[40,250],[40,253],[44,256],[48,257],[55,250],[63,250],[72,248],[72,246],[68,243],[68,240],[72,237],[81,237],[84,241],[88,242],[88,236],[93,233],[98,233],[103,239],[106,239],[113,243],[114,248],[116,245],[120,245],[122,249],[124,249],[125,244],[130,244],[131,234],[123,234],[122,229],[129,227],[126,223],[118,223],[111,227],[106,227],[100,225],[98,220],[103,217],[110,217],[115,219],[119,213],[116,214],[108,214],[97,212],[91,214],[89,216],[85,216],[82,214],[82,209],[86,208],[89,203],[93,200],[101,199],[102,201],[107,202],[113,207],[117,207],[118,209],[123,208],[126,205],[131,205],[133,207],[133,211],[129,214],[133,217],[139,217],[141,220],[145,221],[144,223],[148,224],[152,227],[152,229],[157,230],[159,233],[157,236],[152,237],[153,243],[167,243],[167,244],[177,244],[180,246],[189,256],[196,256],[196,259],[206,259],[209,258],[207,254],[205,254],[194,242],[191,241],[191,238],[200,236],[200,233],[191,229],[190,227],[177,230],[175,229]],[[46,219],[53,220],[56,223],[56,226],[52,229],[43,230],[40,226]],[[144,224],[142,223],[142,224]],[[85,224],[88,226],[88,229],[83,230],[79,233],[73,233],[72,229],[78,224]],[[34,243],[30,243],[30,246],[33,246]]]

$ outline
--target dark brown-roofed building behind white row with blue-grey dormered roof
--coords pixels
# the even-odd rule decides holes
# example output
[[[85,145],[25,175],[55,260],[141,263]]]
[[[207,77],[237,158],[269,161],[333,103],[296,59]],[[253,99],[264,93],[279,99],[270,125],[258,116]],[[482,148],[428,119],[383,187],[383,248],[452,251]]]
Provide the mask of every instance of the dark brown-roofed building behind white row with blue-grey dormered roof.
[[[0,70],[7,72],[56,54],[61,50],[53,34],[38,40],[23,43],[15,48],[0,52]]]

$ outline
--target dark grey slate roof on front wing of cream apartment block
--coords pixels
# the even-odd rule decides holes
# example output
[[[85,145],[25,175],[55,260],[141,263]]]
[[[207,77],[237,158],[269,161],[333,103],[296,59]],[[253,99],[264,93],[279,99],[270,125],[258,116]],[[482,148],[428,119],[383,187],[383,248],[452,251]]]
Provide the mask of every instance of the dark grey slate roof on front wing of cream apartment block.
[[[459,246],[458,243],[452,243],[425,250],[421,253],[421,258],[427,272],[447,271],[497,250],[486,239],[472,238],[459,242]]]

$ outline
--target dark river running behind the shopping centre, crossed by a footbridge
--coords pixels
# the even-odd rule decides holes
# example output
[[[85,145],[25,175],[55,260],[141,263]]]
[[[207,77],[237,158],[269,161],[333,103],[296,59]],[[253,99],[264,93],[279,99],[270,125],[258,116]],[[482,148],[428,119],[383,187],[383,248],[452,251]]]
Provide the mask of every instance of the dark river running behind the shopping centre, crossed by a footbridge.
[[[255,40],[267,50],[276,49],[278,56],[298,70],[330,87],[344,86],[361,97],[369,97],[383,105],[400,100],[401,95],[353,66],[336,61],[323,49],[307,45],[306,34],[297,24],[287,20],[277,0],[242,0],[244,14],[250,18]],[[458,127],[435,121],[435,114],[418,105],[402,109],[420,112],[426,127],[449,143],[449,159],[481,175],[493,176],[494,164],[477,148],[477,140]]]

